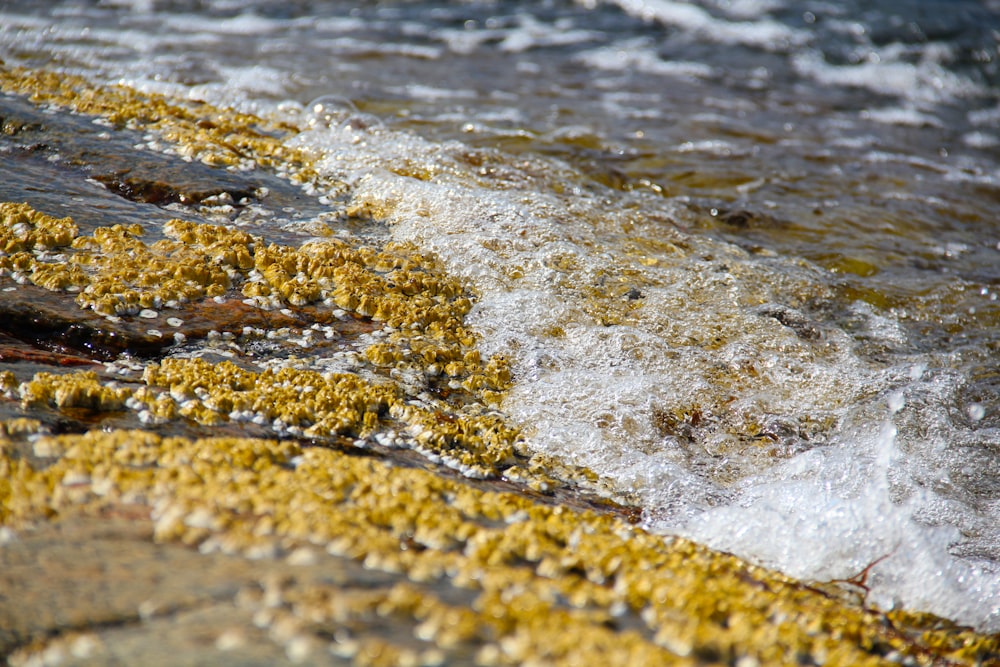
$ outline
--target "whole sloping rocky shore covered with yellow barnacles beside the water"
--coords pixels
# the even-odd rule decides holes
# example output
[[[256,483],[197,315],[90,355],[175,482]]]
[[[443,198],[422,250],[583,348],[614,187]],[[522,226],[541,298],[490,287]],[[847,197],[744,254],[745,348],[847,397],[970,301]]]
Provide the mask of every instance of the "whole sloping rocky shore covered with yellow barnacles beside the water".
[[[0,87],[10,664],[1000,664],[1000,637],[867,607],[863,572],[649,534],[530,452],[475,294],[318,182],[295,127]],[[310,234],[259,235],[285,209]]]

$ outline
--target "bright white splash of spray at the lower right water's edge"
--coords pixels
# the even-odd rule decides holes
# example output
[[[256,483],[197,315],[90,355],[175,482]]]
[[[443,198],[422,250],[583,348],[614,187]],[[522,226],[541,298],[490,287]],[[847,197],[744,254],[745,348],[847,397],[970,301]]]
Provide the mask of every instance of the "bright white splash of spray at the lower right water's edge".
[[[872,566],[862,582],[870,604],[930,609],[997,631],[1000,576],[951,555],[957,529],[918,523],[920,493],[893,498],[897,456],[896,429],[885,422],[748,480],[736,502],[699,515],[682,532],[795,577],[847,580]]]

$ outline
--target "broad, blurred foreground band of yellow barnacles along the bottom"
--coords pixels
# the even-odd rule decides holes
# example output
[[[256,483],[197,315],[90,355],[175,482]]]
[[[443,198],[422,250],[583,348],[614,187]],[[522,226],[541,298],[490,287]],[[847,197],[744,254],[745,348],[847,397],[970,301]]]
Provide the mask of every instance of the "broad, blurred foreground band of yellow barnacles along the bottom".
[[[456,650],[474,650],[482,664],[783,664],[793,656],[874,665],[890,654],[905,664],[976,664],[1000,651],[995,636],[869,610],[612,516],[373,458],[289,441],[130,431],[35,444],[45,465],[0,448],[4,525],[141,503],[152,507],[159,541],[290,561],[347,558],[391,575],[380,588],[273,585],[257,595],[255,619],[276,641],[359,664],[371,655],[447,661]],[[467,591],[472,603],[456,604],[449,591]],[[407,624],[422,648],[334,632],[374,619]]]

